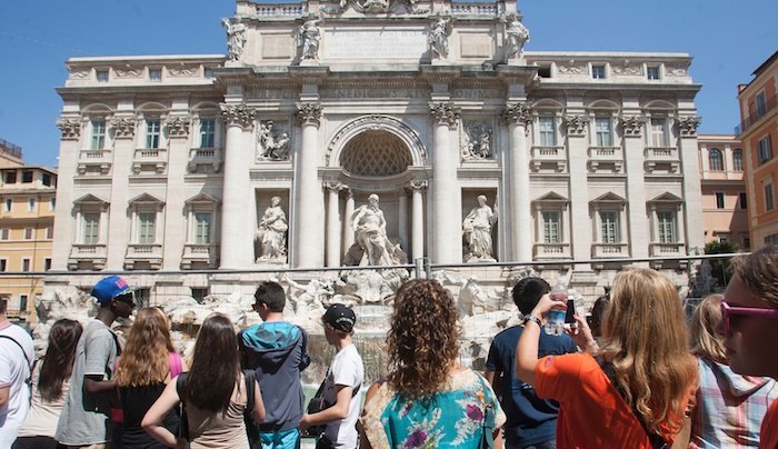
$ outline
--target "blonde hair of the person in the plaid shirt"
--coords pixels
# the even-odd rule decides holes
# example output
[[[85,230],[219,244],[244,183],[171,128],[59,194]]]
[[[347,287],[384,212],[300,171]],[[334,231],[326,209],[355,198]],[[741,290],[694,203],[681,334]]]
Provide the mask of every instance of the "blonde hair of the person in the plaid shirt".
[[[721,322],[721,300],[724,295],[709,295],[700,301],[691,316],[691,353],[719,363],[727,363],[724,338],[716,331]]]

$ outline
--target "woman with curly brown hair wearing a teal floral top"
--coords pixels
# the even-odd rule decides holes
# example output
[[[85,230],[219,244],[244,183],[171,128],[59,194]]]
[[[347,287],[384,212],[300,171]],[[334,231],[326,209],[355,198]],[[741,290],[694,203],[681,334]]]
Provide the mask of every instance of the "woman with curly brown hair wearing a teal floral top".
[[[435,280],[411,280],[395,298],[387,337],[389,376],[370,387],[365,447],[477,448],[505,415],[489,383],[458,362],[459,312]]]

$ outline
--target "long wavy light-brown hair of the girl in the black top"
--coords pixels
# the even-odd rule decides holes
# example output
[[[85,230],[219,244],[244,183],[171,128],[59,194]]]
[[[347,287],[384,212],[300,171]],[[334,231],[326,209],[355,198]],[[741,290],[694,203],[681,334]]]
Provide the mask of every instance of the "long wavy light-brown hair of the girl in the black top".
[[[119,359],[117,385],[142,387],[163,382],[170,372],[168,355],[173,351],[164,313],[156,307],[140,309]]]

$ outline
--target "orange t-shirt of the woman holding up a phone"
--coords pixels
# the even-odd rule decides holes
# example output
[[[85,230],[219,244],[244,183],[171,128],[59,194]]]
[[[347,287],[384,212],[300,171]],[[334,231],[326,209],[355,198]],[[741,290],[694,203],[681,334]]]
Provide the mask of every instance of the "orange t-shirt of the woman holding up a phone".
[[[559,401],[558,448],[651,449],[640,421],[591,356],[568,353],[535,367],[539,397]],[[662,432],[668,445],[675,435]]]

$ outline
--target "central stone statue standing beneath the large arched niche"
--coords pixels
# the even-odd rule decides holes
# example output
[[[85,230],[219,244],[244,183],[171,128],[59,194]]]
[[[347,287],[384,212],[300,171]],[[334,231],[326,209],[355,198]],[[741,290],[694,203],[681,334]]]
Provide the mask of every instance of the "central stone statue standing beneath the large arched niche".
[[[347,266],[390,266],[406,263],[400,245],[387,237],[387,220],[378,207],[378,194],[368,197],[368,203],[353,211],[349,220],[356,243],[346,253]]]

